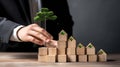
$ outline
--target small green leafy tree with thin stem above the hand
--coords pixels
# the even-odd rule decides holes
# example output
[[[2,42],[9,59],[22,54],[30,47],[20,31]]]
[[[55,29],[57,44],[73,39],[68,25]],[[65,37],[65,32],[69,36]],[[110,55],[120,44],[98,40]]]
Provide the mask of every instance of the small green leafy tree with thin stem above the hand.
[[[46,21],[47,20],[56,20],[57,16],[54,15],[53,11],[49,11],[48,8],[41,8],[39,12],[36,13],[36,16],[34,17],[35,22],[44,22],[46,27]]]

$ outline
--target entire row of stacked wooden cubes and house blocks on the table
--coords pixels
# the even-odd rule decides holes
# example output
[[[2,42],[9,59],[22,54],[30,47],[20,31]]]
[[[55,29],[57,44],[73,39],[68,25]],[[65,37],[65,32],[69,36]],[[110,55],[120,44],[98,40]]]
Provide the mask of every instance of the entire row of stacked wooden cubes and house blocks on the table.
[[[107,61],[107,54],[102,49],[96,54],[95,47],[89,43],[86,47],[62,30],[59,33],[58,47],[40,47],[38,52],[39,62],[103,62]],[[47,44],[49,46],[49,44]]]

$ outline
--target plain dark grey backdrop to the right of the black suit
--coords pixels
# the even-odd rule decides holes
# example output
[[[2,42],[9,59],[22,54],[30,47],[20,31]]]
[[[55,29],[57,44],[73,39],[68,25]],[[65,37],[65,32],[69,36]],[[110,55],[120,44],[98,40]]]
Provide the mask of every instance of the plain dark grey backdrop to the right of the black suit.
[[[73,36],[97,51],[120,53],[120,0],[68,0],[74,20]]]

